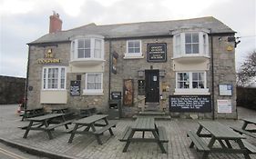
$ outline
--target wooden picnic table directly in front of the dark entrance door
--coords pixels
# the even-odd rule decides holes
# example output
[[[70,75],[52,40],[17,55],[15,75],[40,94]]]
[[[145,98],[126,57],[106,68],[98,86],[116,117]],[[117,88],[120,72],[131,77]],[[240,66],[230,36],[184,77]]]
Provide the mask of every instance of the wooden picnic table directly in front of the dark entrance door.
[[[142,132],[142,137],[134,137],[136,132]],[[145,138],[145,132],[151,132],[154,138]],[[157,127],[153,117],[138,117],[132,126],[128,126],[124,131],[121,142],[126,142],[123,152],[127,152],[131,142],[157,143],[162,153],[167,153],[167,143],[169,142],[166,129],[162,126]],[[165,145],[164,145],[165,144]]]

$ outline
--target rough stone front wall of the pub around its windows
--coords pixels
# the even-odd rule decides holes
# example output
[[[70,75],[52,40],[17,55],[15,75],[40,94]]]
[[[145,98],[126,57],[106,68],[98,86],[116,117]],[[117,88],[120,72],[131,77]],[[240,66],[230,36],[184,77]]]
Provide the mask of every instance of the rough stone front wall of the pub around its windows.
[[[222,41],[220,41],[220,36]],[[124,55],[127,49],[128,38],[105,39],[104,45],[104,62],[101,64],[104,68],[103,72],[103,94],[101,95],[70,95],[70,81],[77,80],[77,75],[81,75],[81,89],[85,87],[85,73],[74,73],[70,66],[70,43],[59,43],[53,45],[30,45],[29,46],[29,72],[28,72],[28,86],[27,92],[27,107],[59,107],[65,106],[72,109],[85,108],[88,105],[96,106],[102,113],[108,112],[108,101],[111,92],[121,92],[122,97],[124,92],[124,80],[132,79],[134,84],[134,104],[122,107],[124,117],[131,117],[141,111],[140,106],[145,105],[145,95],[138,94],[138,80],[143,80],[144,77],[138,76],[139,70],[164,70],[165,75],[159,77],[159,94],[162,98],[159,100],[159,107],[162,111],[169,113],[172,116],[190,117],[191,114],[197,115],[199,118],[236,118],[236,90],[232,90],[232,95],[223,96],[219,94],[219,84],[231,84],[235,86],[235,55],[234,43],[228,42],[230,35],[209,35],[209,49],[210,59],[209,69],[206,70],[207,85],[211,98],[213,96],[212,111],[210,113],[173,113],[169,112],[169,95],[175,93],[176,88],[176,71],[174,70],[173,59],[173,36],[155,36],[155,37],[140,37],[141,50],[143,57],[138,59],[126,59]],[[212,41],[211,41],[212,40]],[[152,63],[147,61],[147,47],[148,44],[167,44],[167,61],[161,63]],[[212,44],[212,48],[211,48]],[[228,47],[231,46],[231,50]],[[48,49],[52,49],[56,58],[59,58],[61,63],[57,64],[38,64],[37,59],[44,58]],[[109,70],[110,55],[112,53],[118,54],[117,74],[112,74]],[[214,95],[212,95],[212,63],[211,54],[213,54],[213,76],[214,76]],[[62,65],[67,66],[67,104],[40,104],[40,93],[42,91],[42,69],[46,65]],[[186,64],[187,65],[187,64]],[[193,70],[191,70],[193,71]],[[109,81],[110,80],[110,81]],[[169,89],[162,88],[163,85],[168,85]],[[218,113],[217,100],[230,100],[232,105],[232,112],[229,114]],[[123,99],[122,99],[123,103]]]

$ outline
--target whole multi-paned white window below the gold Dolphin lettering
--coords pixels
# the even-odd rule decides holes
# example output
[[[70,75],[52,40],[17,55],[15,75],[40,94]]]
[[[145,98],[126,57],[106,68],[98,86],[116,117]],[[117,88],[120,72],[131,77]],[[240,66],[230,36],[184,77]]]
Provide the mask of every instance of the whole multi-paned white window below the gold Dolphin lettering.
[[[43,90],[66,89],[66,67],[48,66],[43,68],[42,87]]]

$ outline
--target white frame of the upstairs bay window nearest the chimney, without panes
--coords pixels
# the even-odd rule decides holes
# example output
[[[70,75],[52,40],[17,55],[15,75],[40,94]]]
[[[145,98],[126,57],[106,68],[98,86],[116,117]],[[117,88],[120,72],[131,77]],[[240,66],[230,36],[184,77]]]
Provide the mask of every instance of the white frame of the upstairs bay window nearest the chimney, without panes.
[[[104,37],[100,35],[77,36],[71,41],[71,61],[104,60]],[[90,57],[78,58],[78,41],[90,40]],[[95,43],[100,41],[100,57],[95,57]]]

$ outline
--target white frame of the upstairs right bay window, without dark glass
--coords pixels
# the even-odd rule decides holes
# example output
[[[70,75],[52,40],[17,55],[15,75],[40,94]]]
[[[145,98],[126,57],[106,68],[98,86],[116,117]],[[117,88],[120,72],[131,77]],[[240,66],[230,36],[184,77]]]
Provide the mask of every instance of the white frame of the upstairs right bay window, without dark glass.
[[[186,34],[199,34],[199,54],[186,54]],[[179,36],[179,42],[177,37]],[[205,37],[205,39],[204,39]],[[180,45],[179,49],[177,49]],[[182,56],[209,56],[209,35],[206,32],[201,31],[188,31],[188,32],[179,32],[173,35],[173,56],[182,57]]]

